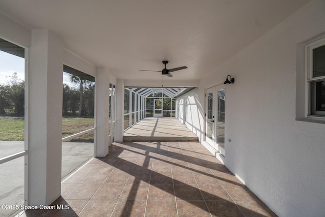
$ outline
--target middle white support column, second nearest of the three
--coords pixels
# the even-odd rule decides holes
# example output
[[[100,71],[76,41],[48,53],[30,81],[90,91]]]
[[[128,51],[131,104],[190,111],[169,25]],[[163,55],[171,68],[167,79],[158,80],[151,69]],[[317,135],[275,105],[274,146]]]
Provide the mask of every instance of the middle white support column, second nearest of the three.
[[[107,69],[97,70],[96,78],[96,130],[95,157],[105,157],[108,154],[109,140],[109,77]]]

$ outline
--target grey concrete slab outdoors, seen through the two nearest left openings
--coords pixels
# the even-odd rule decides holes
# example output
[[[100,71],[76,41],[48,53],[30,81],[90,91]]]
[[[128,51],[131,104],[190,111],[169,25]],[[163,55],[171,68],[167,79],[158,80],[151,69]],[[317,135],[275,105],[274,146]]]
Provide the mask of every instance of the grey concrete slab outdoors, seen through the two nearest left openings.
[[[0,150],[0,158],[21,152],[24,141],[0,141]],[[92,158],[93,152],[93,143],[62,142],[62,179]],[[0,205],[23,205],[24,157],[0,164],[0,177]],[[12,216],[15,211],[0,209],[0,216]]]

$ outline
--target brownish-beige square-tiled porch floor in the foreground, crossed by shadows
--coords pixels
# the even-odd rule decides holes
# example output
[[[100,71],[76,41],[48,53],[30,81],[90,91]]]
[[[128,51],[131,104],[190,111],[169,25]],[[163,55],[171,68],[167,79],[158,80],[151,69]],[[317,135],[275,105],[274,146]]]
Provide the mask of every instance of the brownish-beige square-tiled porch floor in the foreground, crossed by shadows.
[[[26,216],[276,216],[199,142],[122,142]]]

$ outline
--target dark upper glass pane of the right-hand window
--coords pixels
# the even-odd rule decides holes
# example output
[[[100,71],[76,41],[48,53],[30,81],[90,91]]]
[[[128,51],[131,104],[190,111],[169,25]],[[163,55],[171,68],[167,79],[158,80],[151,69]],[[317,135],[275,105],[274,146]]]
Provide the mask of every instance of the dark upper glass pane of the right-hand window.
[[[325,76],[325,45],[313,49],[313,77]]]

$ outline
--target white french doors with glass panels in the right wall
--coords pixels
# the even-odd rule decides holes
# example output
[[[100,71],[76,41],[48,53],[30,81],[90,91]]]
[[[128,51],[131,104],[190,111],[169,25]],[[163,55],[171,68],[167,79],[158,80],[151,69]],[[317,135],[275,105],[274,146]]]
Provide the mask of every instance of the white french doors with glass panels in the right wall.
[[[225,155],[225,89],[206,90],[206,142]]]

